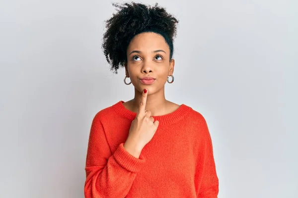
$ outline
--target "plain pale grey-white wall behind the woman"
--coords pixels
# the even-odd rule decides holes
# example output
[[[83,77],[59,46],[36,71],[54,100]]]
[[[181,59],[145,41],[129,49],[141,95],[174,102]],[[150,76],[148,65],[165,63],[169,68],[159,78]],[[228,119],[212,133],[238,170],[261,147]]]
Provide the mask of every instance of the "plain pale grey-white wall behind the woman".
[[[157,2],[179,20],[165,96],[205,117],[219,198],[297,198],[298,1]],[[101,49],[112,1],[0,9],[0,198],[83,198],[94,115],[134,97]]]

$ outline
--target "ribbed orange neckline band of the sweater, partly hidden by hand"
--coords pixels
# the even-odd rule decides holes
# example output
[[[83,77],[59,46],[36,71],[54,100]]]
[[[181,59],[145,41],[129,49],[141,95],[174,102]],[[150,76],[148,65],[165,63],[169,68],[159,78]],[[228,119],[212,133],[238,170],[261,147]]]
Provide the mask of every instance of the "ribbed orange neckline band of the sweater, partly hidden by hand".
[[[123,105],[123,103],[124,101],[120,100],[119,102],[112,105],[112,108],[122,117],[125,117],[133,121],[136,118],[137,113],[127,109]],[[154,118],[154,121],[155,120],[159,121],[159,125],[169,125],[183,119],[191,109],[192,108],[190,106],[181,104],[175,111],[171,113],[168,113],[165,115],[152,116],[152,117]]]

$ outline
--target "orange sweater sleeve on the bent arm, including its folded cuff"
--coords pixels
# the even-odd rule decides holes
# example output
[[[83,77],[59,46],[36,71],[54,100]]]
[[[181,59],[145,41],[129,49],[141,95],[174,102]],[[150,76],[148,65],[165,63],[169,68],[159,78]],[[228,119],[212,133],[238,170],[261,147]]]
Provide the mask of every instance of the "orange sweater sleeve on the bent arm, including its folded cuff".
[[[86,156],[85,198],[124,198],[145,163],[131,155],[121,143],[112,153],[102,123],[93,119]]]

